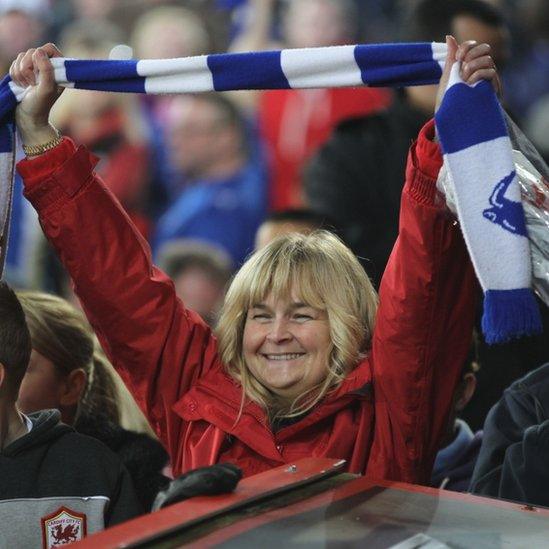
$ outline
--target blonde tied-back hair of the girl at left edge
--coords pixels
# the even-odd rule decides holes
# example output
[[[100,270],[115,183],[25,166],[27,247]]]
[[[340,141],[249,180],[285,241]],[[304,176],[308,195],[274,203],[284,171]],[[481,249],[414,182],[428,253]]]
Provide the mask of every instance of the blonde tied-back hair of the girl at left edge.
[[[120,376],[105,357],[84,315],[65,299],[44,292],[21,291],[32,348],[50,360],[61,375],[86,373],[77,406],[80,415],[106,419],[125,429],[152,434]]]

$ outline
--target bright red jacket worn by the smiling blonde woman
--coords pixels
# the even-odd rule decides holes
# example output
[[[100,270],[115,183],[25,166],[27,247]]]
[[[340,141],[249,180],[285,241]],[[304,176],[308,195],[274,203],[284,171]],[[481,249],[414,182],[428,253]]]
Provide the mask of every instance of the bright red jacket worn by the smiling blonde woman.
[[[372,351],[334,394],[276,433],[254,403],[236,422],[241,390],[215,337],[151,264],[144,239],[94,175],[95,158],[65,139],[19,163],[44,232],[176,475],[219,461],[250,475],[325,456],[346,459],[355,473],[429,481],[471,340],[474,275],[459,227],[435,204],[440,153],[426,132],[432,123],[410,152]]]

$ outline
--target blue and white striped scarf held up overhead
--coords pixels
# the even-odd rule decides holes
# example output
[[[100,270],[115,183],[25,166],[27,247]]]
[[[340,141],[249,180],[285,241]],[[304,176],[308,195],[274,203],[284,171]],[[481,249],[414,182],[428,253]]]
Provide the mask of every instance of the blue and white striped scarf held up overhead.
[[[403,43],[181,59],[55,58],[52,62],[61,86],[165,94],[435,84],[440,80],[445,57],[445,44]],[[9,204],[15,143],[13,113],[24,94],[25,90],[9,77],[0,83],[0,208]],[[456,187],[458,217],[485,293],[482,326],[486,340],[501,342],[539,332],[541,321],[530,289],[529,244],[511,143],[490,84],[464,84],[456,64],[436,125],[444,161]],[[2,214],[0,231],[6,219],[6,211],[0,209]]]

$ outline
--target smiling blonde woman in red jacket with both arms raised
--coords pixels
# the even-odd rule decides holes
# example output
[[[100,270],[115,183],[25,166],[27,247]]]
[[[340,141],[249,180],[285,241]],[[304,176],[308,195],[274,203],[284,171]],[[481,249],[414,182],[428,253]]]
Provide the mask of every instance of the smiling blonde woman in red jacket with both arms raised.
[[[470,83],[493,79],[488,51],[449,40],[448,61],[465,61]],[[316,456],[345,459],[354,473],[428,482],[469,348],[475,288],[459,227],[436,194],[433,123],[411,149],[379,307],[336,237],[290,235],[237,273],[216,337],[151,264],[95,160],[48,125],[59,95],[49,57],[58,55],[46,45],[12,65],[12,78],[30,86],[16,113],[30,154],[18,170],[174,473],[233,462],[251,475]]]

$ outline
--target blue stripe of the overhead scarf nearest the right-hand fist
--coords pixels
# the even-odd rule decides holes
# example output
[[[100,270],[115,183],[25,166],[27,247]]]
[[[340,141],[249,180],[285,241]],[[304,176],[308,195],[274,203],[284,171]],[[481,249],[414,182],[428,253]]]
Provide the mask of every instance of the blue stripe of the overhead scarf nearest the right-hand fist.
[[[359,45],[354,54],[369,86],[435,84],[442,74],[428,43]]]

